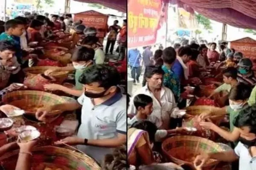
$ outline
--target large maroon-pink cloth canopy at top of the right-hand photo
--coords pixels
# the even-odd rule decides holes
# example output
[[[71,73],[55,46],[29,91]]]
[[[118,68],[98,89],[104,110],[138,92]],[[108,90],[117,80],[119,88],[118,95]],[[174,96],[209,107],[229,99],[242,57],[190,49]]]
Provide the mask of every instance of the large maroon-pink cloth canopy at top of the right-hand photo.
[[[187,10],[239,28],[256,29],[256,0],[170,0]],[[191,7],[191,8],[189,8]]]

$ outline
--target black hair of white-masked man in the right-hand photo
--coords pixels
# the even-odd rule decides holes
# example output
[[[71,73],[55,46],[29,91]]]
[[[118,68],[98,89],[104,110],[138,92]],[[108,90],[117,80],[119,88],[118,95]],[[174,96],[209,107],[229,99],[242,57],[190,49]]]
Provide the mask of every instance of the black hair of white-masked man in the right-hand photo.
[[[238,83],[235,87],[231,88],[228,98],[230,100],[245,100],[250,97],[252,88],[244,83]]]

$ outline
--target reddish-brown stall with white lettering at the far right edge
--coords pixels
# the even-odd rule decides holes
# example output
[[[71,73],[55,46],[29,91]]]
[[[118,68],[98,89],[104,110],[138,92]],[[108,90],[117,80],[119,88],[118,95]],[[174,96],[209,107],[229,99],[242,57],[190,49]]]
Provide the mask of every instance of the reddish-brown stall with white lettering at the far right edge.
[[[239,40],[230,42],[230,48],[240,51],[244,57],[250,58],[253,62],[253,70],[256,71],[256,40],[250,37],[245,37]]]

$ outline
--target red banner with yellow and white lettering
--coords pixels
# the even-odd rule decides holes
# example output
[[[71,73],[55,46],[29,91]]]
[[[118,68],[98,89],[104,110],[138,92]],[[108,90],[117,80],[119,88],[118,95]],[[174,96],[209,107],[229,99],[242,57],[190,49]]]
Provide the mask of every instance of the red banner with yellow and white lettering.
[[[163,0],[129,0],[128,48],[155,44],[167,14],[168,3]]]

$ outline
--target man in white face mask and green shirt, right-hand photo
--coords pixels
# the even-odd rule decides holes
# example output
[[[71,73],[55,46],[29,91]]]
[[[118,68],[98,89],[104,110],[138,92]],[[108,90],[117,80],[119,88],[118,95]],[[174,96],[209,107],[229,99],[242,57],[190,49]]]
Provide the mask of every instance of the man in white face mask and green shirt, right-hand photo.
[[[239,129],[233,125],[233,120],[240,114],[242,110],[248,107],[247,100],[250,97],[252,89],[250,86],[243,83],[239,83],[231,88],[229,93],[229,106],[224,107],[221,111],[218,111],[219,115],[229,114],[230,117],[230,131],[221,129],[212,122],[201,122],[200,125],[206,129],[211,129],[222,136],[224,139],[233,142],[235,147],[240,136]],[[201,114],[201,119],[209,118],[210,114]]]

